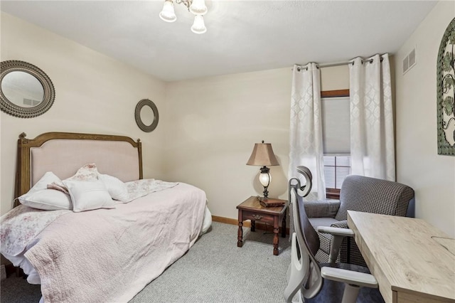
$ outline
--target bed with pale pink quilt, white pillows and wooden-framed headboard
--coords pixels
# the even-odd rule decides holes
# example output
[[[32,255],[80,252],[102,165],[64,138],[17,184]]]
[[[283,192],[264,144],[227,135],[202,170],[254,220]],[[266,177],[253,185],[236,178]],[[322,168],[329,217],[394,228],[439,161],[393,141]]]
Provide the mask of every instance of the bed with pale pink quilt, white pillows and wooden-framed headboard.
[[[144,180],[141,142],[123,136],[21,134],[15,196],[1,253],[43,302],[127,302],[211,223],[204,191]]]

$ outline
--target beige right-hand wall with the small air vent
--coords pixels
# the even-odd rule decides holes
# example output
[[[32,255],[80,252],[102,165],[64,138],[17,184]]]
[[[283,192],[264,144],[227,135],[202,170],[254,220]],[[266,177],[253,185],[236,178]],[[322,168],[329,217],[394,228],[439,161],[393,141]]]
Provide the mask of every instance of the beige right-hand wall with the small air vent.
[[[440,1],[395,55],[397,181],[416,191],[416,216],[455,236],[455,157],[437,154],[436,63],[442,35],[455,16],[454,1]],[[402,75],[402,60],[416,47],[417,65]]]

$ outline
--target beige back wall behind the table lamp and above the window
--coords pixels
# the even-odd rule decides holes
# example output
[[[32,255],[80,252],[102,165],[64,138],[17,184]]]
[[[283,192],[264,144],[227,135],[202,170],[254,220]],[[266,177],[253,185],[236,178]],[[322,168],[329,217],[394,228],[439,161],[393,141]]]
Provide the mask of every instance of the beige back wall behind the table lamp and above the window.
[[[259,166],[247,166],[255,143],[272,143],[269,196],[287,199],[291,68],[168,83],[168,179],[206,191],[215,216],[237,218],[237,206],[262,195]],[[340,76],[340,77],[338,77]],[[321,70],[323,90],[348,88],[348,69]]]

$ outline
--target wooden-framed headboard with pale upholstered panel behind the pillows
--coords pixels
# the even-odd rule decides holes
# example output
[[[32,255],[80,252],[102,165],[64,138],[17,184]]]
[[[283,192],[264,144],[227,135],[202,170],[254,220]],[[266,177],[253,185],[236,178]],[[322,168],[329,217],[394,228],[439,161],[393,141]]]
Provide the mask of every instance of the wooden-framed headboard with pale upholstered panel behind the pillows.
[[[95,163],[101,174],[127,182],[142,179],[140,139],[110,134],[46,132],[35,139],[19,135],[14,198],[30,190],[46,171],[60,179],[73,176],[85,164]],[[15,200],[14,207],[18,205]]]

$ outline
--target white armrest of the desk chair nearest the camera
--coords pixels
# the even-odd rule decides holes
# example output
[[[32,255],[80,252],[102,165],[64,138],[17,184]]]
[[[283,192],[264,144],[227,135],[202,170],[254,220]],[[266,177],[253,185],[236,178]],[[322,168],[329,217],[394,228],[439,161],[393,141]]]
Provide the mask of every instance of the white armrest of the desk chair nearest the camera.
[[[364,272],[354,272],[352,270],[343,270],[341,268],[322,267],[321,276],[324,279],[358,285],[362,287],[378,288],[378,281],[375,277]]]

